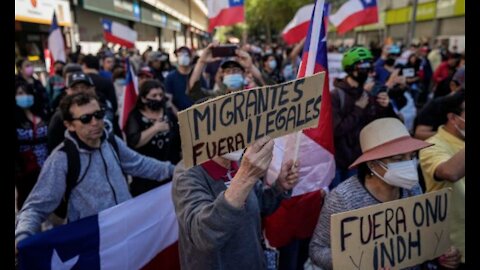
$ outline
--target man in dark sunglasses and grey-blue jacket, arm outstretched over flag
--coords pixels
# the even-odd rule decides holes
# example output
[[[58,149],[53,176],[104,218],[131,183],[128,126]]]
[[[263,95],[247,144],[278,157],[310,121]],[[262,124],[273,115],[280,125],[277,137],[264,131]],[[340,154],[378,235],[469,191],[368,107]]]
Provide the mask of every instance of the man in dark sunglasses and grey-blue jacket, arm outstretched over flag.
[[[72,222],[130,199],[125,174],[157,181],[173,174],[170,162],[140,155],[120,138],[107,137],[104,111],[95,95],[66,96],[60,109],[67,127],[65,141],[45,161],[37,185],[18,213],[15,247],[39,232],[41,223],[62,200]]]

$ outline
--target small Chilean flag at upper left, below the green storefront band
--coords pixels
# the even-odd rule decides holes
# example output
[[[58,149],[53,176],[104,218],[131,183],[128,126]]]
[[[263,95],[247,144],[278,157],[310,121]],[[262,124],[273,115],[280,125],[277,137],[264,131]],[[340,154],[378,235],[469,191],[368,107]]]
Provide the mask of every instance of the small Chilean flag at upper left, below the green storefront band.
[[[137,40],[137,32],[129,27],[108,20],[102,19],[103,37],[105,41],[120,44],[127,48],[133,48]]]

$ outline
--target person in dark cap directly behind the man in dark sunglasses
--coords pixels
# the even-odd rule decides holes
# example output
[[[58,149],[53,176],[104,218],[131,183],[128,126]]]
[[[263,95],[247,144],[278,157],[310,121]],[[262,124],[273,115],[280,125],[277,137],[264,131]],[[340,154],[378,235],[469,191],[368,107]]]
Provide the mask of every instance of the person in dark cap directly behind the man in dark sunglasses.
[[[96,95],[95,85],[92,79],[83,72],[74,72],[67,77],[67,88],[65,89],[66,96],[77,93],[90,93]],[[100,106],[104,108],[104,125],[107,132],[113,132],[114,112],[105,105],[106,100],[100,98]],[[57,110],[50,120],[48,125],[48,151],[51,153],[65,139],[65,126],[61,117],[60,110]]]

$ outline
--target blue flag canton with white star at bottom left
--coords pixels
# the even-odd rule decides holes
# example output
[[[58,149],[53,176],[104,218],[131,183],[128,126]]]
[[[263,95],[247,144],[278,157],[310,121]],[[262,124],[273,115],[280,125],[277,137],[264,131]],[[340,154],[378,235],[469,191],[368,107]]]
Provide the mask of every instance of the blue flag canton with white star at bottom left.
[[[98,216],[94,215],[20,241],[19,267],[100,269],[99,247]]]

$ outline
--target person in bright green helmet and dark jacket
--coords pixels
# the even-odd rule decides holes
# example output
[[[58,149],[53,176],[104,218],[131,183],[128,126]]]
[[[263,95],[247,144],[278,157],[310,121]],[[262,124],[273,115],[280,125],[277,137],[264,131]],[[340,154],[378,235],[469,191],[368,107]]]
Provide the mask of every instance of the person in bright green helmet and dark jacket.
[[[381,117],[397,117],[386,92],[370,96],[373,78],[373,56],[363,47],[354,47],[344,53],[343,70],[347,76],[334,82],[332,114],[334,125],[336,174],[330,188],[334,188],[356,173],[348,166],[361,154],[358,137],[360,130]]]

